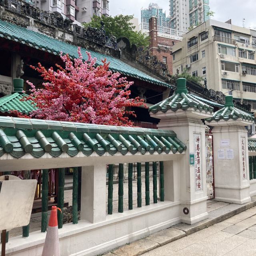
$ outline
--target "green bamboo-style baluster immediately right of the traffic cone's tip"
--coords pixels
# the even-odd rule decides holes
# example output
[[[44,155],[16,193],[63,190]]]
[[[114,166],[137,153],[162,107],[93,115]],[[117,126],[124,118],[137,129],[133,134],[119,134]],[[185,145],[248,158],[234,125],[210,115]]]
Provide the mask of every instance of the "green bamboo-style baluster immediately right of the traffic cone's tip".
[[[59,168],[58,170],[58,208],[60,208],[61,211],[57,211],[58,228],[62,228],[63,226],[64,185],[65,185],[65,168]]]

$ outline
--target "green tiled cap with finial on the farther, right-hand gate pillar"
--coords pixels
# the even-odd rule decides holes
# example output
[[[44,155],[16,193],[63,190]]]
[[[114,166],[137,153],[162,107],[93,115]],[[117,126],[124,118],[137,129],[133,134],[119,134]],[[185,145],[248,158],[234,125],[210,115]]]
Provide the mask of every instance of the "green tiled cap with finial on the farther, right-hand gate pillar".
[[[214,112],[212,118],[206,118],[207,122],[212,122],[213,120],[218,122],[220,120],[228,121],[228,120],[237,120],[241,118],[242,120],[246,121],[253,121],[254,116],[249,113],[246,113],[238,108],[234,107],[233,97],[228,95],[225,97],[226,103],[224,108]]]

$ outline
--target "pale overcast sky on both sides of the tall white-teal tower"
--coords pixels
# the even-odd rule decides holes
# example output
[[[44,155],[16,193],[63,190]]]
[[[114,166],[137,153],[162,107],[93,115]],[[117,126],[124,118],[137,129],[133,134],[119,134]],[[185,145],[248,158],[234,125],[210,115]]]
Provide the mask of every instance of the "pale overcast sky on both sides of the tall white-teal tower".
[[[169,14],[169,0],[110,0],[110,15],[134,14],[140,23],[140,9],[148,7],[150,2],[157,3]],[[215,12],[214,20],[232,19],[232,24],[242,27],[245,18],[245,26],[256,29],[256,0],[210,0],[210,10]]]

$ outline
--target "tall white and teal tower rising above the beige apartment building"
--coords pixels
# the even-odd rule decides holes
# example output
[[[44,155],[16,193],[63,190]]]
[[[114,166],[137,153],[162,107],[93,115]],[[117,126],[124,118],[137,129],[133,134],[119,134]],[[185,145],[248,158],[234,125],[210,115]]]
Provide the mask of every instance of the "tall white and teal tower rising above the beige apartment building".
[[[170,0],[170,27],[186,31],[209,19],[209,0]]]

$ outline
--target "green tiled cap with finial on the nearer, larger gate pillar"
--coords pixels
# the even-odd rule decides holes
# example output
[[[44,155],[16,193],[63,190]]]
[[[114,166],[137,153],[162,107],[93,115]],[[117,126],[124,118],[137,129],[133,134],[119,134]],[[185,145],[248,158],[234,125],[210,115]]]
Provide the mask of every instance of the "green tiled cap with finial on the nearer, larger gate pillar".
[[[213,108],[208,104],[198,100],[194,95],[188,94],[186,89],[186,79],[178,78],[177,79],[177,88],[172,96],[151,106],[149,108],[150,112],[157,113],[159,110],[166,112],[169,109],[176,111],[178,109],[186,110],[188,108],[193,108],[194,110],[200,110],[200,112],[213,112]]]

